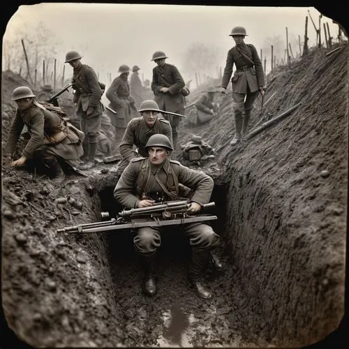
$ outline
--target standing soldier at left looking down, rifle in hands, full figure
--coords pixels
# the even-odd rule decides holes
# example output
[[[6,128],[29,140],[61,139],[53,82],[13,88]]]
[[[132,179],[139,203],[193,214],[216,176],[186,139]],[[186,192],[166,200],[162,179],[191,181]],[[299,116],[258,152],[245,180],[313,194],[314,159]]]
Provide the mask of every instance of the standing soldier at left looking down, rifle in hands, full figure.
[[[85,134],[82,144],[84,156],[81,158],[81,170],[89,170],[95,164],[97,149],[97,134],[101,128],[101,114],[103,105],[101,97],[103,90],[98,82],[98,77],[93,68],[81,63],[82,56],[76,51],[66,54],[66,63],[73,67],[74,103],[76,114],[80,117],[80,128]]]

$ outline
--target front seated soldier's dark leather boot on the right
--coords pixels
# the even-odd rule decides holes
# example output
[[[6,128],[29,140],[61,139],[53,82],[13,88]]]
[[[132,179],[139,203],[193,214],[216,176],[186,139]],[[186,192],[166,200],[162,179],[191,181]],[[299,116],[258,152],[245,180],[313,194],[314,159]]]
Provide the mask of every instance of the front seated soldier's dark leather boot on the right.
[[[193,247],[191,252],[191,265],[188,270],[188,279],[196,294],[204,299],[211,299],[212,293],[202,283],[202,276],[209,263],[209,250],[201,250]]]

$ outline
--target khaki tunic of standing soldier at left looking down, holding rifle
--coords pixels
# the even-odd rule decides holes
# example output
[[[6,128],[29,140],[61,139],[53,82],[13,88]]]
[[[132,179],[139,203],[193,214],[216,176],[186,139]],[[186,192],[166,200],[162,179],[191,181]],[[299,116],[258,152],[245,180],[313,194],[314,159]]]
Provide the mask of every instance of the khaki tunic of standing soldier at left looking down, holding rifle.
[[[79,68],[73,69],[73,87],[75,87],[74,103],[76,104],[76,114],[80,117],[90,119],[103,112],[101,97],[103,90],[98,83],[98,77],[93,68],[82,64]],[[88,107],[93,107],[94,111],[87,117]]]

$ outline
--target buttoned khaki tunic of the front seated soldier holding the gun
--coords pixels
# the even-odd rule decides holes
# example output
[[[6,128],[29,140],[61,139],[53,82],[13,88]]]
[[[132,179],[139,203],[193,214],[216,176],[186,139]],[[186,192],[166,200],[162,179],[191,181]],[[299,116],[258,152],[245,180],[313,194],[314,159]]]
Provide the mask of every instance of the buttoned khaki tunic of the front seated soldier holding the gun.
[[[138,183],[138,177],[149,158],[135,158],[128,164],[124,172],[121,174],[117,186],[114,188],[114,198],[124,207],[131,209],[136,207],[136,203],[142,198],[145,193],[149,197],[153,195],[163,194],[161,186],[158,185],[155,179],[157,173],[158,179],[167,188],[168,191],[174,191],[173,176],[177,177],[177,183],[184,184],[188,188],[194,190],[191,201],[198,202],[203,205],[209,202],[211,193],[214,188],[214,181],[207,174],[198,172],[181,165],[178,161],[167,158],[161,166],[154,166],[149,163],[149,177],[144,185]]]

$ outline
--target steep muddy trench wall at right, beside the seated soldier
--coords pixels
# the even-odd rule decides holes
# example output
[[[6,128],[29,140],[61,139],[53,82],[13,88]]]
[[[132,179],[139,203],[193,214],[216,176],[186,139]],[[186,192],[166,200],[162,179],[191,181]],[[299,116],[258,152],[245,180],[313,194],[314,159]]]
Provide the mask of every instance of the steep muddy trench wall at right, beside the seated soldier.
[[[286,346],[322,340],[344,313],[348,103],[343,94],[329,114],[317,98],[315,122],[303,117],[304,103],[246,145],[227,170],[227,240],[260,318],[251,318],[254,336]],[[277,133],[284,135],[282,150]]]

